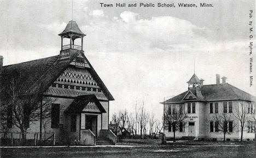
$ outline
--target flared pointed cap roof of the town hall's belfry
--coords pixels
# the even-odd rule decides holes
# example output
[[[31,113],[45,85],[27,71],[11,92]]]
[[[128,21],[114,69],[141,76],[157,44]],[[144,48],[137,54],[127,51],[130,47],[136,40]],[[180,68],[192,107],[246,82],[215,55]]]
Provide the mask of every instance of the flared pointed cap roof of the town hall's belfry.
[[[69,21],[64,31],[62,31],[62,33],[60,33],[59,35],[67,35],[67,38],[70,38],[69,33],[78,34],[81,37],[85,36],[85,34],[79,29],[77,22],[75,21]]]

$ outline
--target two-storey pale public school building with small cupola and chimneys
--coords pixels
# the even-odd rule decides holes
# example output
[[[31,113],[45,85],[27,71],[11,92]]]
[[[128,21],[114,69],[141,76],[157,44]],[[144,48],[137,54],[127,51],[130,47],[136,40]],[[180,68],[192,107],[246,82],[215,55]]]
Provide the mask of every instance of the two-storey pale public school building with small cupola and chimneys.
[[[223,139],[217,121],[211,120],[214,114],[227,113],[232,116],[237,108],[245,106],[247,120],[243,129],[244,139],[254,139],[255,96],[226,83],[226,77],[216,75],[216,84],[203,85],[204,80],[194,74],[188,83],[188,90],[161,104],[165,114],[174,111],[187,113],[185,123],[180,123],[176,137],[195,137],[195,139]],[[235,126],[234,126],[235,125]],[[240,139],[241,124],[235,117],[226,123],[227,139]],[[173,137],[172,126],[165,126],[165,135]]]

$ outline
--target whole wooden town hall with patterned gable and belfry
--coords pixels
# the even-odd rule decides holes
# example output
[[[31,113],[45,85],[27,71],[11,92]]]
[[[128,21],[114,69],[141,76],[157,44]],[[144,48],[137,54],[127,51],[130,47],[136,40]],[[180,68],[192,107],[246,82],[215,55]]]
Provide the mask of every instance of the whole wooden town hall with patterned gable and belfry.
[[[8,76],[20,74],[16,78],[22,82],[22,95],[30,96],[42,90],[41,104],[45,99],[52,101],[48,123],[45,120],[28,120],[28,133],[44,132],[45,129],[46,132],[54,132],[57,141],[61,141],[61,135],[65,133],[66,137],[84,145],[98,144],[97,138],[101,138],[100,141],[106,138],[115,144],[116,137],[108,128],[109,101],[114,98],[85,57],[85,34],[75,21],[69,21],[59,36],[59,55],[0,68],[1,94],[4,94],[1,95],[1,104],[10,95],[4,91],[11,80]],[[65,40],[68,41],[66,44]],[[9,131],[18,131],[12,124],[14,111],[10,113],[7,119]]]

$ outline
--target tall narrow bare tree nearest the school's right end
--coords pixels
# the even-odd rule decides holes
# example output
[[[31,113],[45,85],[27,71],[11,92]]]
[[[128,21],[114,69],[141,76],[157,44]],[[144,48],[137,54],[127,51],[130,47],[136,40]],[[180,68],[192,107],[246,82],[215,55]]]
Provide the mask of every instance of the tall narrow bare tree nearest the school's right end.
[[[249,102],[241,102],[241,104],[235,107],[235,111],[233,113],[234,117],[238,120],[239,122],[239,128],[241,131],[241,141],[243,141],[243,129],[245,127],[245,123],[246,121],[249,119],[249,115],[248,115],[248,105]]]

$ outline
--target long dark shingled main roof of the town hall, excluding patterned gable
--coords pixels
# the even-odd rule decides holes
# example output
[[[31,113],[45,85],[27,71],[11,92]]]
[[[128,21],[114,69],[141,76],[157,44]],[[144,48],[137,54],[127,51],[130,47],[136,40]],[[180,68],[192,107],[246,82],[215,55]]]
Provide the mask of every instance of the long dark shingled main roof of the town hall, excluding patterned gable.
[[[70,50],[70,58],[66,59],[60,59],[59,56],[53,56],[3,66],[0,68],[0,92],[7,89],[8,82],[12,77],[20,77],[20,83],[23,84],[22,89],[24,89],[24,95],[33,94],[39,89],[45,92],[79,54],[79,51]],[[84,55],[83,57],[85,58]],[[88,62],[88,59],[86,60]],[[108,100],[114,100],[113,96],[109,93],[107,87],[96,74],[90,63],[89,65],[91,67],[90,72],[96,82],[98,82],[98,85],[102,87],[103,93],[107,96]],[[15,76],[17,74],[20,74],[20,76]],[[5,93],[0,93],[0,99],[4,99],[4,94]]]

